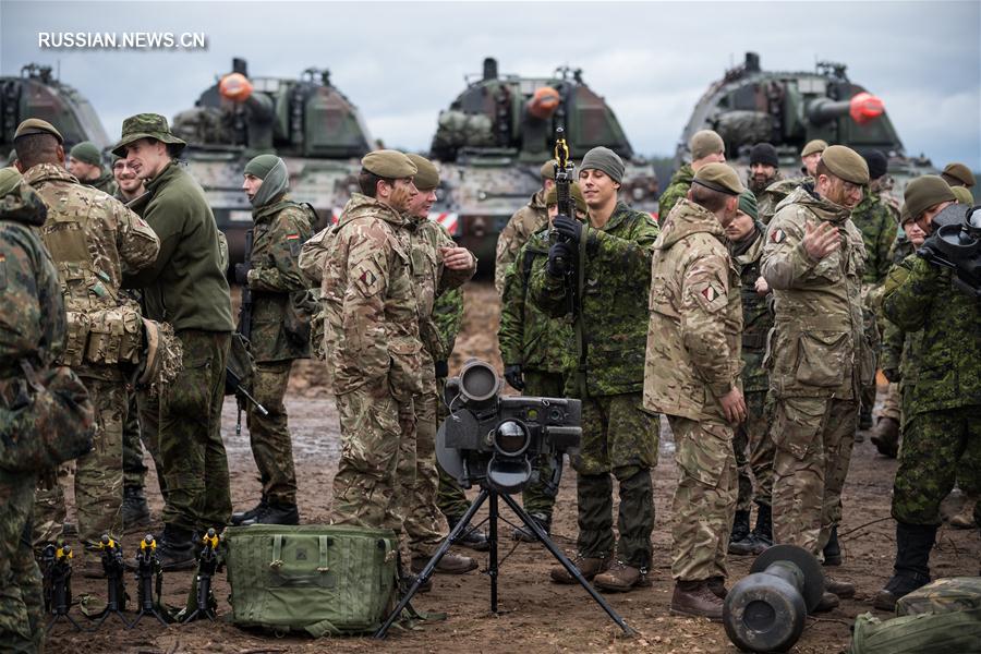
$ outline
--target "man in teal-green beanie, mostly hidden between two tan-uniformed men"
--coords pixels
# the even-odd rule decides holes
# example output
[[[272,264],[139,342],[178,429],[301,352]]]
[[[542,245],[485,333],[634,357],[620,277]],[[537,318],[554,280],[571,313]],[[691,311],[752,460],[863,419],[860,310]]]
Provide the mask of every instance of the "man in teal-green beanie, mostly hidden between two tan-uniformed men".
[[[767,402],[770,378],[763,367],[766,336],[773,327],[773,312],[770,308],[773,293],[760,274],[765,235],[766,228],[756,218],[756,199],[752,191],[746,190],[739,196],[736,218],[726,228],[729,253],[739,270],[742,296],[741,379],[746,422],[736,426],[732,440],[739,473],[739,497],[729,536],[729,554],[738,555],[759,555],[773,544],[771,494],[774,447],[770,435],[773,411],[771,402]],[[756,480],[755,497],[753,477]],[[753,501],[758,507],[756,525],[751,532],[750,510]]]

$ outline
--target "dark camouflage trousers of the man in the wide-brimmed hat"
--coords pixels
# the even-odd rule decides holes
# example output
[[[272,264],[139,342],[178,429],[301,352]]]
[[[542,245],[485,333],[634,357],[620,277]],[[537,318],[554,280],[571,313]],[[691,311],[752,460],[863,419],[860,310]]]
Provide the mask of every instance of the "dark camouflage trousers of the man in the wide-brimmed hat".
[[[231,335],[183,329],[184,368],[160,397],[164,522],[189,531],[220,529],[231,517],[228,457],[221,440],[225,361]]]

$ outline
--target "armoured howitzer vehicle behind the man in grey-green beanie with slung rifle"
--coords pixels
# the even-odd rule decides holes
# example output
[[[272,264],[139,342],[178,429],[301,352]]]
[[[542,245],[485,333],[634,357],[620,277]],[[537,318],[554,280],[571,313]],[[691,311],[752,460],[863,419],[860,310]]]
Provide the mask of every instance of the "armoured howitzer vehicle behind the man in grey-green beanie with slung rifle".
[[[375,143],[358,108],[330,83],[325,69],[300,78],[250,77],[243,59],[218,77],[194,105],[173,119],[187,142],[181,155],[201,183],[226,233],[229,254],[241,261],[252,206],[242,170],[252,157],[275,153],[290,172],[290,195],[317,210],[319,226],[358,190],[361,157]]]

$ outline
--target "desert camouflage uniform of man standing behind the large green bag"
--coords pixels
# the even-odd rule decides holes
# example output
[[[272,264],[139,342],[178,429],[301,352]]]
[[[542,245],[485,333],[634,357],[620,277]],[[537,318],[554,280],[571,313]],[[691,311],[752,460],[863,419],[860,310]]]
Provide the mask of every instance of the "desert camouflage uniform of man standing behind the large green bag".
[[[382,202],[353,194],[331,234],[320,292],[342,440],[331,518],[399,533],[396,471],[400,449],[413,455],[405,469],[415,469],[414,443],[402,448],[401,441],[409,437],[410,419],[414,436],[412,398],[424,390],[404,218]]]

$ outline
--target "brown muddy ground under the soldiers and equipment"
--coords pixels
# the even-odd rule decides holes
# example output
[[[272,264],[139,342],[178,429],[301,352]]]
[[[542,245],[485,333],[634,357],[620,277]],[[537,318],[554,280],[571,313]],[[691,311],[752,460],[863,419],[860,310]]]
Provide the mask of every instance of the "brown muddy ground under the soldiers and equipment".
[[[494,288],[487,282],[468,287],[464,332],[458,339],[451,370],[470,356],[500,364],[496,351],[497,303]],[[324,522],[330,504],[330,484],[339,452],[337,412],[329,393],[323,388],[318,365],[302,362],[293,375],[287,407],[294,439],[294,455],[300,484],[300,510],[306,523]],[[252,506],[258,497],[259,484],[249,449],[247,435],[235,436],[235,410],[227,401],[223,436],[232,479],[232,500],[237,508]],[[654,531],[654,585],[623,595],[607,595],[610,605],[639,632],[632,639],[621,637],[619,629],[578,586],[559,586],[548,581],[548,569],[555,561],[537,544],[500,540],[501,564],[499,615],[489,614],[489,581],[483,573],[486,555],[476,556],[482,567],[462,577],[437,576],[433,592],[420,595],[415,606],[421,610],[445,611],[445,621],[429,622],[416,630],[393,630],[385,642],[344,638],[314,641],[308,638],[263,635],[242,631],[225,621],[230,614],[228,586],[223,576],[216,582],[220,618],[217,622],[164,628],[144,619],[135,629],[123,630],[109,621],[93,633],[76,634],[59,625],[48,639],[48,652],[239,652],[287,653],[322,652],[735,652],[720,625],[705,620],[668,615],[673,583],[670,580],[670,499],[676,483],[671,460],[670,435],[664,431],[661,462],[654,471],[656,482],[656,528]],[[797,646],[799,653],[843,652],[850,639],[855,617],[871,607],[871,598],[888,577],[894,553],[894,523],[889,518],[889,493],[896,471],[894,460],[875,453],[865,440],[857,445],[851,471],[845,487],[845,518],[840,528],[845,564],[834,574],[852,581],[858,588],[855,600],[818,618],[809,618]],[[154,517],[159,519],[162,502],[153,473],[147,492]],[[507,518],[510,514],[504,509]],[[504,534],[510,528],[504,525]],[[570,552],[576,538],[576,488],[572,474],[562,480],[556,506],[553,533],[560,547]],[[132,555],[140,533],[128,534],[125,550]],[[932,568],[934,577],[977,574],[981,560],[981,542],[977,531],[944,528],[938,534]],[[730,582],[747,574],[750,558],[730,559]],[[165,600],[181,604],[186,598],[192,572],[173,572],[165,578]],[[105,582],[75,579],[75,594],[92,593],[105,597]],[[130,581],[131,595],[135,584]],[[132,606],[132,605],[131,605]],[[72,611],[77,615],[77,607]],[[888,617],[881,611],[880,617]],[[132,614],[130,614],[132,618]]]

